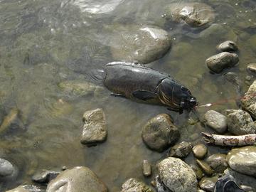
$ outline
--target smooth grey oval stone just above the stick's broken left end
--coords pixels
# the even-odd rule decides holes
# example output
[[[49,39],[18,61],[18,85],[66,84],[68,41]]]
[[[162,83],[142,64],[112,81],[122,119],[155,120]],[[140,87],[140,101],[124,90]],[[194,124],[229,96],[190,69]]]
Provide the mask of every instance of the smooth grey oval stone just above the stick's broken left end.
[[[215,132],[220,134],[226,132],[228,129],[227,117],[214,110],[206,112],[203,122],[206,124],[206,126],[214,129]]]

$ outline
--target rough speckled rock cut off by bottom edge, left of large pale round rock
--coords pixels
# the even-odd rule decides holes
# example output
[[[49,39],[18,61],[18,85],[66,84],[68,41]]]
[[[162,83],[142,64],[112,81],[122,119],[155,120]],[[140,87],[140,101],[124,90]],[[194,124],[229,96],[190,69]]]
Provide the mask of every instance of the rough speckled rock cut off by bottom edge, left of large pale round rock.
[[[145,183],[137,181],[135,178],[129,178],[122,184],[121,192],[154,192],[149,186]]]

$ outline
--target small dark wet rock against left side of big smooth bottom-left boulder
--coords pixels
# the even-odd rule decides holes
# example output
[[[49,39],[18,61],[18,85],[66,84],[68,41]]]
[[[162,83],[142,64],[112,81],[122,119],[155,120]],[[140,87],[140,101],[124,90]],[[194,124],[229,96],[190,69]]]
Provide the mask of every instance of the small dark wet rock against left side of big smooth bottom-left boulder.
[[[33,175],[32,181],[34,181],[36,183],[48,183],[51,180],[53,180],[54,178],[56,178],[56,176],[58,176],[58,174],[60,174],[59,171],[43,170],[43,171],[40,171],[40,172],[36,173],[35,175]]]

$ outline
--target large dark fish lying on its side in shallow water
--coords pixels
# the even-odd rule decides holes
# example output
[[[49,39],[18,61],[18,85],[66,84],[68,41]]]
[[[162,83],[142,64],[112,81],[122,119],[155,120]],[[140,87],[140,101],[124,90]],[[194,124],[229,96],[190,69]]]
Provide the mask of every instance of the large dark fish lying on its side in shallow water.
[[[114,93],[137,102],[165,105],[170,110],[192,110],[198,102],[191,92],[170,75],[134,63],[105,66],[104,85]]]

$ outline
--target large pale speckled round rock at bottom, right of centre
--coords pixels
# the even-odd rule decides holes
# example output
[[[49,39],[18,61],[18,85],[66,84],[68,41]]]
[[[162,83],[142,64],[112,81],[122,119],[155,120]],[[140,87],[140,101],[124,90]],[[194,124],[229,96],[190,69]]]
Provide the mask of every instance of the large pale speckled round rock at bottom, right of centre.
[[[157,165],[159,178],[174,192],[197,191],[196,174],[188,164],[178,158],[169,157]]]

